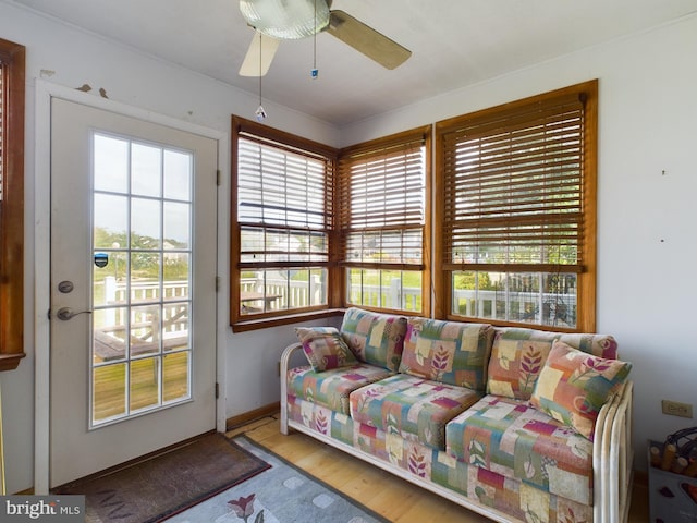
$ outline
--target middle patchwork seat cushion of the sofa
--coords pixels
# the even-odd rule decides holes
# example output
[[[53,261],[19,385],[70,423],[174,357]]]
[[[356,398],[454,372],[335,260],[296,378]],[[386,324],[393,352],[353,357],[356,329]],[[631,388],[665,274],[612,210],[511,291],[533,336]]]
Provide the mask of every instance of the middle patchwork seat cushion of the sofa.
[[[357,423],[444,450],[445,424],[480,397],[465,387],[398,374],[353,391],[351,416]]]

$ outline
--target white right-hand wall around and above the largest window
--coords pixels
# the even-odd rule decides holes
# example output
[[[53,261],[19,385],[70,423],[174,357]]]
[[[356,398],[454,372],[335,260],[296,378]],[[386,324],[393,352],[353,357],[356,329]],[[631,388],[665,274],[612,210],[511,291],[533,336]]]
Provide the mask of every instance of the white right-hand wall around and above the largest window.
[[[599,78],[597,330],[633,362],[636,466],[648,438],[695,419],[697,16],[425,100],[342,130],[342,145]],[[663,174],[663,171],[665,173]]]

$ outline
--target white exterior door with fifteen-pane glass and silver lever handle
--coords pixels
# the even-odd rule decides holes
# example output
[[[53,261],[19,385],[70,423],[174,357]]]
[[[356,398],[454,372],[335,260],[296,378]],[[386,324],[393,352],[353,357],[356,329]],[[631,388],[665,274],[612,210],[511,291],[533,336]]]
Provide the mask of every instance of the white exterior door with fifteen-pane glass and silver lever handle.
[[[216,428],[217,159],[52,99],[51,487]]]

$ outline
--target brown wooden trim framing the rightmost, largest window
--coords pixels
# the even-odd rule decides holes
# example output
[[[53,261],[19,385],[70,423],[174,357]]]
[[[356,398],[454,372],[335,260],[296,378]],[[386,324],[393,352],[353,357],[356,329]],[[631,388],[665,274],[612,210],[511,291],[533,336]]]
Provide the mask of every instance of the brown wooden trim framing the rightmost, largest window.
[[[578,287],[577,287],[577,308],[578,316],[576,318],[576,328],[566,329],[570,331],[580,332],[594,332],[596,328],[596,227],[597,227],[597,108],[598,108],[598,81],[594,80],[582,84],[573,85],[562,89],[557,89],[542,95],[525,98],[522,100],[504,104],[502,106],[493,107],[477,111],[472,114],[456,117],[453,119],[444,120],[436,124],[436,199],[444,202],[445,195],[445,159],[444,159],[444,138],[445,133],[452,132],[466,120],[485,120],[488,117],[498,118],[499,114],[511,112],[514,113],[518,108],[529,105],[530,102],[543,102],[546,100],[559,98],[560,96],[574,95],[584,93],[585,96],[585,121],[584,121],[584,185],[583,185],[583,212],[584,212],[584,238],[582,239],[582,253],[580,259],[583,260],[583,268],[578,273]],[[436,206],[435,212],[435,230],[443,231],[445,224],[445,210],[444,206]],[[452,264],[448,264],[445,258],[448,253],[445,251],[445,239],[443,234],[435,238],[435,273],[442,275],[437,277],[433,282],[435,289],[435,315],[440,318],[449,319],[467,319],[467,320],[486,320],[494,325],[512,325],[518,327],[531,327],[539,329],[550,330],[552,327],[546,327],[538,324],[517,324],[506,323],[500,320],[488,320],[486,318],[465,318],[463,316],[454,315],[452,313],[452,293],[450,291],[451,270]],[[497,270],[501,266],[491,266],[486,268],[487,270]],[[481,269],[480,266],[480,270]],[[511,269],[509,269],[511,270]],[[554,330],[565,330],[558,327],[553,327]]]

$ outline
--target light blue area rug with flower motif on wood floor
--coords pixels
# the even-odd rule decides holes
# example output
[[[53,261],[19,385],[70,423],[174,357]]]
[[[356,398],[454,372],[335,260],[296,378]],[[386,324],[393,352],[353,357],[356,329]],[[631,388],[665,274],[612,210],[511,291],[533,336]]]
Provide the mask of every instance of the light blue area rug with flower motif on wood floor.
[[[167,523],[387,523],[381,515],[344,497],[245,436],[234,438],[271,467]]]

